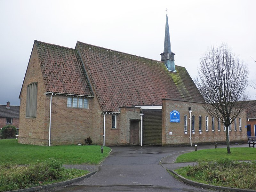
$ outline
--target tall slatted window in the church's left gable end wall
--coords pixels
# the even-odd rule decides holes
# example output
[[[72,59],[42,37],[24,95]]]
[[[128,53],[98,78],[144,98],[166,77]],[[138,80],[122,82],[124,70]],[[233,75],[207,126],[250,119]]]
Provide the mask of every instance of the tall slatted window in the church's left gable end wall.
[[[37,83],[27,86],[26,117],[36,117]]]

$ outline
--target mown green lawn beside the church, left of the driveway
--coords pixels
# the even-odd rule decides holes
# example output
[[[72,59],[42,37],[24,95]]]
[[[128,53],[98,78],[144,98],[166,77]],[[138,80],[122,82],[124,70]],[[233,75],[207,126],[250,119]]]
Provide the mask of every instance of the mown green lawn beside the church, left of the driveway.
[[[2,139],[0,146],[0,162],[15,164],[31,164],[49,158],[63,164],[99,164],[111,150],[104,147],[104,153],[101,153],[98,145],[25,145],[19,144],[17,139]]]

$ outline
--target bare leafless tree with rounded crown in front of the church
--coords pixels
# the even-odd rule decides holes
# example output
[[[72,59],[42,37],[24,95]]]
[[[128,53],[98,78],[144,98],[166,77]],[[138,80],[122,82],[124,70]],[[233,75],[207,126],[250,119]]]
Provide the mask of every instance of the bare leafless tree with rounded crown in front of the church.
[[[228,153],[229,125],[244,110],[248,100],[245,94],[248,68],[239,56],[235,56],[227,44],[213,47],[200,59],[196,85],[205,99],[204,109],[221,119],[226,127]],[[239,101],[239,102],[238,102]]]

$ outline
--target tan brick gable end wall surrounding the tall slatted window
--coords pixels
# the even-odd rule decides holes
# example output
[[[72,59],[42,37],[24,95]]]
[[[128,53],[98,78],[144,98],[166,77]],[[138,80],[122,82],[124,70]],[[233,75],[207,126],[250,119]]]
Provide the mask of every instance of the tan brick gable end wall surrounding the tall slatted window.
[[[37,83],[36,118],[26,118],[27,86],[33,82]],[[34,145],[47,145],[48,143],[45,135],[45,106],[48,100],[46,100],[44,92],[46,92],[46,90],[44,87],[43,76],[36,47],[34,47],[20,94],[19,143]]]

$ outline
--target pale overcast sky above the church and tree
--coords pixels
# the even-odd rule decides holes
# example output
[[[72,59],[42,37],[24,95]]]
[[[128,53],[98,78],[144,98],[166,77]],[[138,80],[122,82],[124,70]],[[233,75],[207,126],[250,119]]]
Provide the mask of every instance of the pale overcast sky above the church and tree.
[[[211,45],[227,43],[256,83],[256,1],[0,0],[0,104],[19,94],[34,40],[75,48],[76,41],[160,60],[166,8],[175,65],[195,79]],[[248,87],[251,100],[256,91]]]

